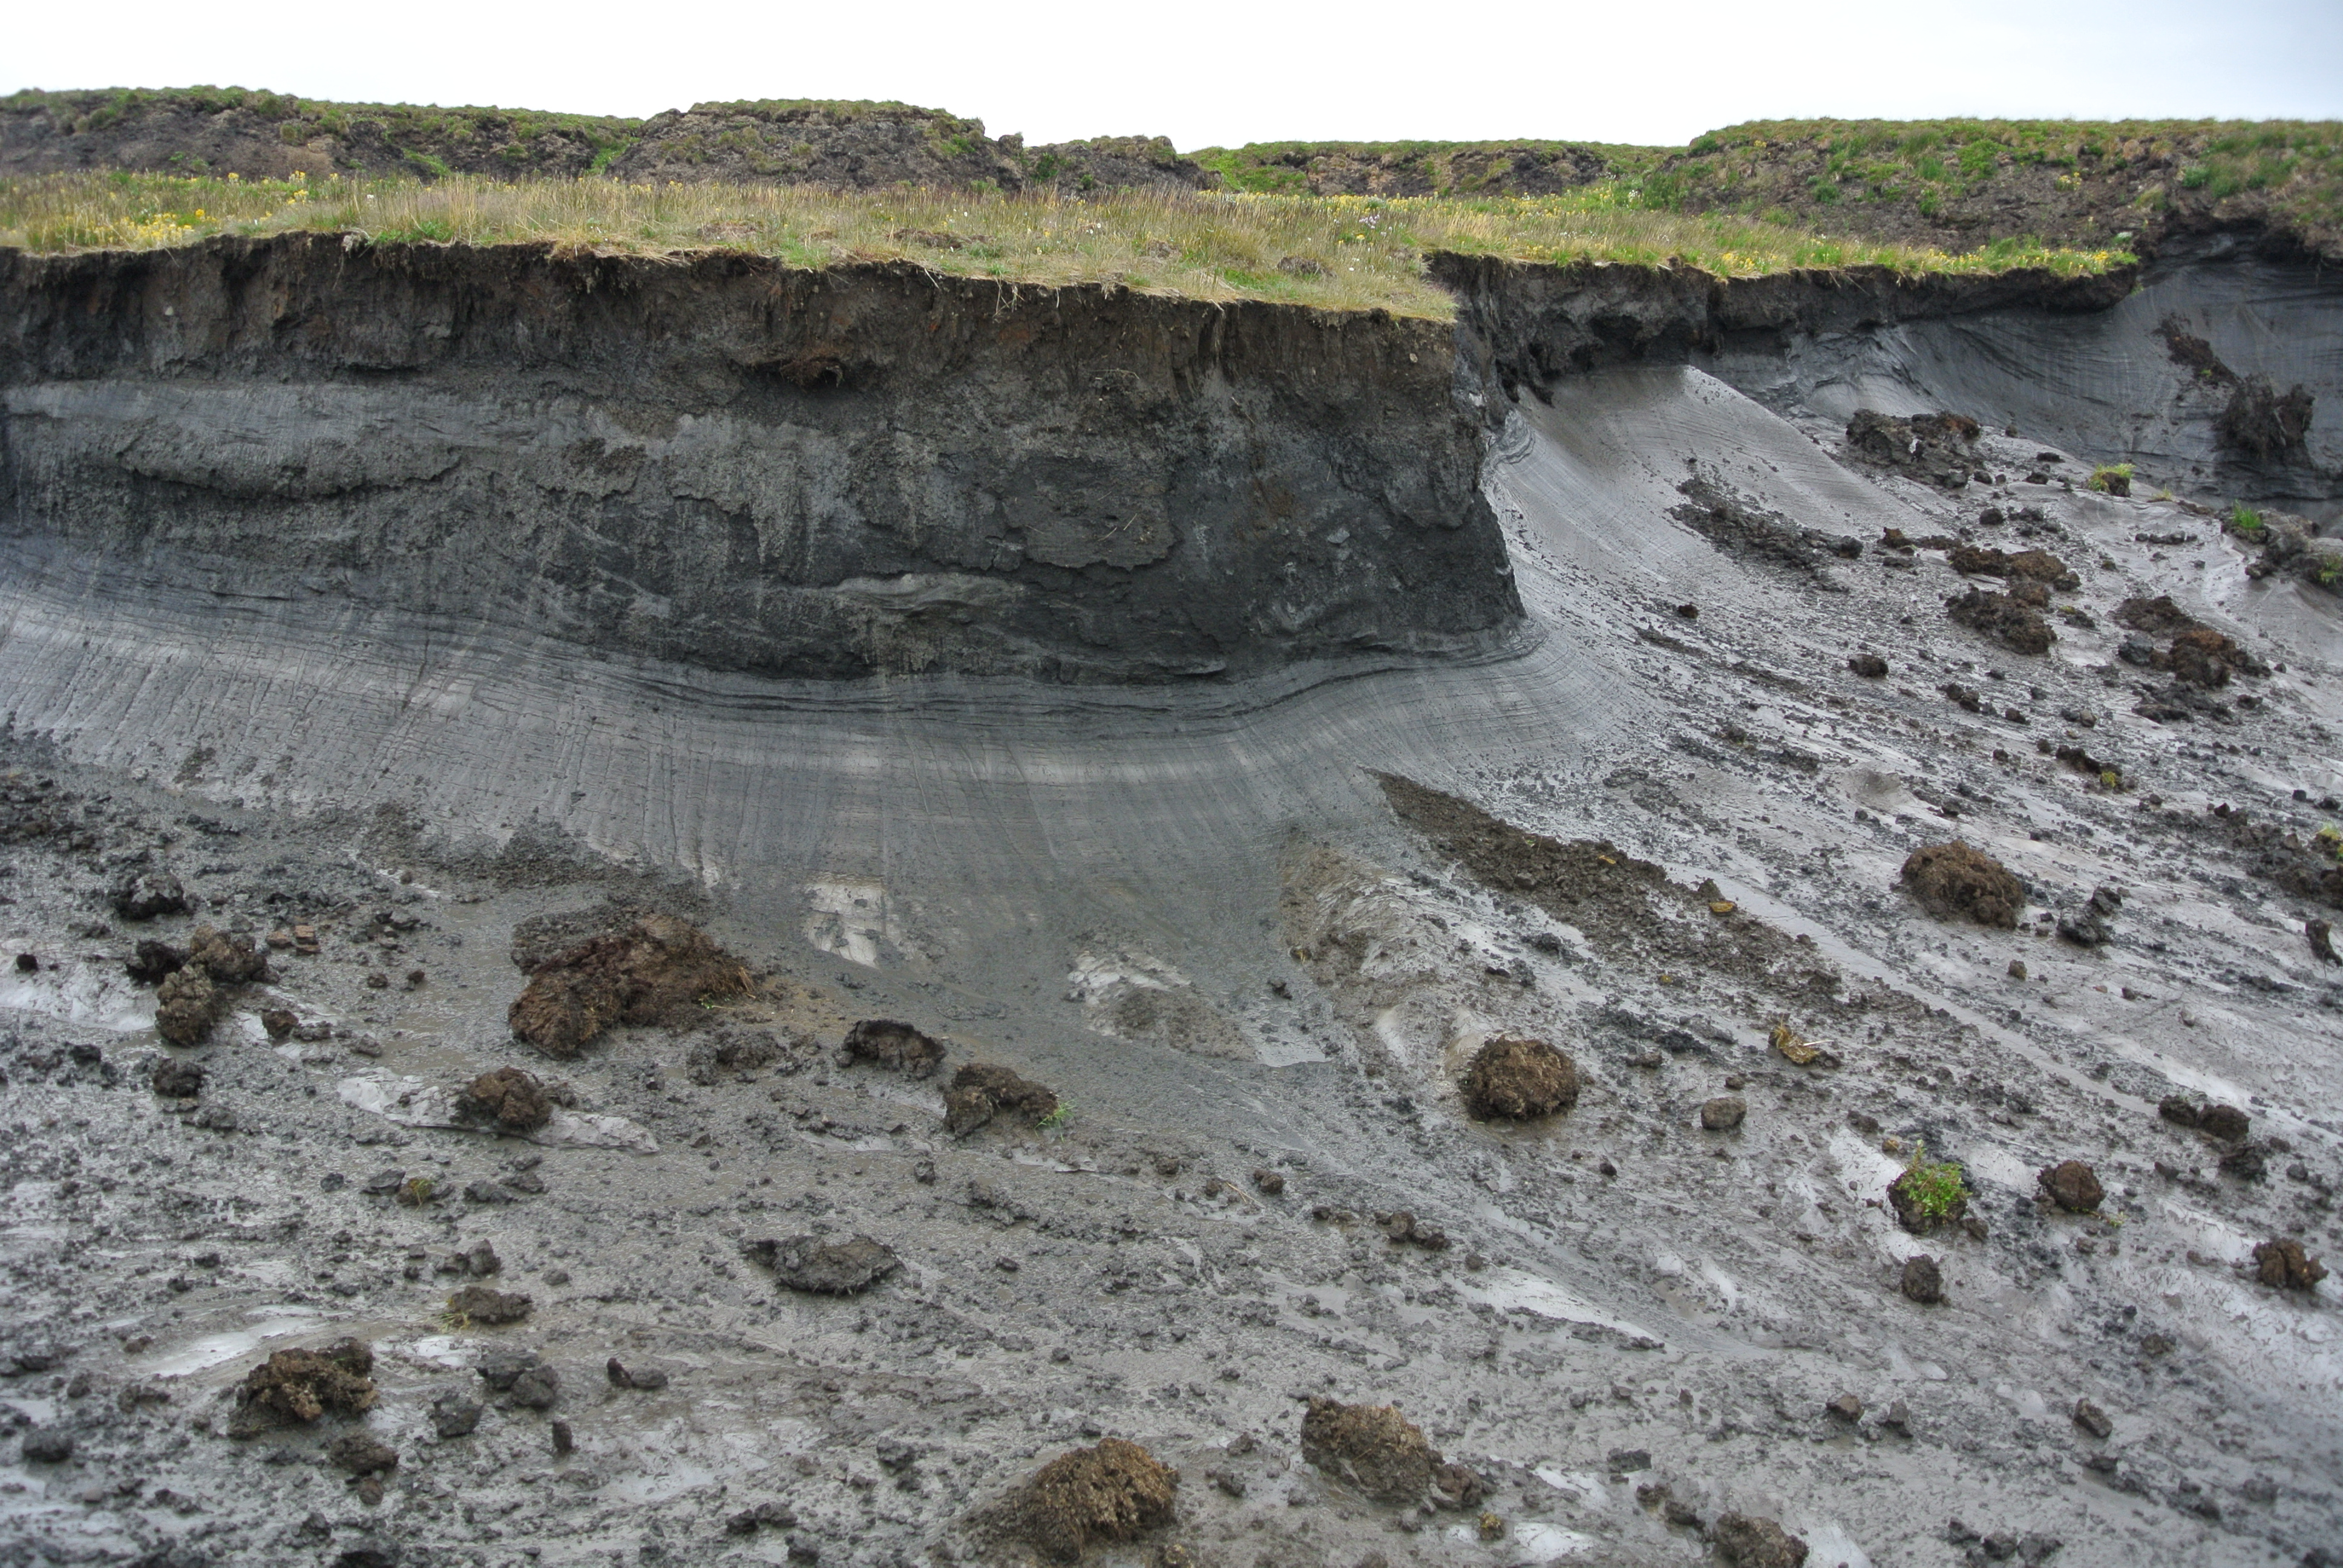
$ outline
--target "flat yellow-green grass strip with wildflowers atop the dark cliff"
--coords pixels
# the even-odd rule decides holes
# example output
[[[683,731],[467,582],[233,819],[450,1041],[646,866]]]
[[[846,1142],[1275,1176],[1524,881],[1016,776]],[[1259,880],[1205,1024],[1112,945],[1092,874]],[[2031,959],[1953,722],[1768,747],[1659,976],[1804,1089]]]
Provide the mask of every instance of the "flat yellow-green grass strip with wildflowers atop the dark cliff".
[[[1511,260],[1666,263],[1720,277],[1879,265],[2062,277],[2125,251],[1996,241],[1949,253],[1734,216],[1631,204],[1612,185],[1553,197],[1296,197],[1106,192],[825,192],[773,185],[239,180],[66,173],[0,180],[0,246],[37,253],[183,246],[316,230],[363,244],[555,244],[623,255],[745,251],[794,267],[911,260],[954,277],[1120,284],[1200,300],[1282,300],[1448,319],[1427,251]]]

